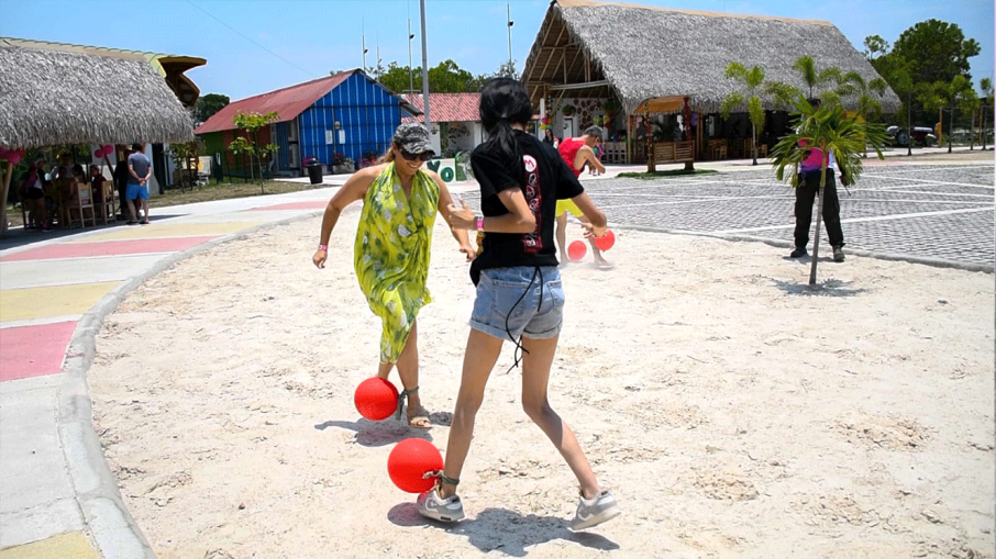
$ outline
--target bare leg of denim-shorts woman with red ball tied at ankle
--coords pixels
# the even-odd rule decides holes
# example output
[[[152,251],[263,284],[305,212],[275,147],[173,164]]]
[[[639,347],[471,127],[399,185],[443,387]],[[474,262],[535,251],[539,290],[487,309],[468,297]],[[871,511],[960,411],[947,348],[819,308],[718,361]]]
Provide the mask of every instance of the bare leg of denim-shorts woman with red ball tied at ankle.
[[[443,473],[447,478],[460,479],[464,461],[471,450],[474,438],[474,420],[484,401],[484,388],[498,355],[501,353],[501,338],[471,329],[467,337],[467,350],[464,353],[464,370],[460,379],[460,392],[456,395],[456,409],[453,411],[453,423],[450,426],[450,441],[446,444],[446,465]],[[456,493],[456,487],[442,482],[440,496],[446,499]]]

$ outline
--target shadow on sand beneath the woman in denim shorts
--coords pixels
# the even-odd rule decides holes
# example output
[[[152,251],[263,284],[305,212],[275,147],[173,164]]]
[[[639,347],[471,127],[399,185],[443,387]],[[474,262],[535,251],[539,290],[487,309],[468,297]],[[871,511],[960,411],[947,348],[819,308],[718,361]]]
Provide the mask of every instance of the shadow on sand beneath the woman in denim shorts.
[[[433,526],[450,534],[466,536],[471,545],[485,554],[498,551],[511,557],[525,557],[529,555],[528,548],[554,539],[574,541],[602,551],[619,549],[618,544],[598,534],[568,530],[571,523],[564,518],[534,514],[522,516],[506,508],[485,508],[476,518],[451,525],[423,518],[413,502],[399,503],[388,511],[387,519],[396,526]]]

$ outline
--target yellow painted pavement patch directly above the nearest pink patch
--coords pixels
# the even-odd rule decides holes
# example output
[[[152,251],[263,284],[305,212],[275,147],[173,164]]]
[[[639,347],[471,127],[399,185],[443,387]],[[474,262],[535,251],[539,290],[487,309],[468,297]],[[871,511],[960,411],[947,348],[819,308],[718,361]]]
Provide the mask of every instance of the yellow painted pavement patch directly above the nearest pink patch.
[[[82,314],[120,281],[0,291],[0,322]]]

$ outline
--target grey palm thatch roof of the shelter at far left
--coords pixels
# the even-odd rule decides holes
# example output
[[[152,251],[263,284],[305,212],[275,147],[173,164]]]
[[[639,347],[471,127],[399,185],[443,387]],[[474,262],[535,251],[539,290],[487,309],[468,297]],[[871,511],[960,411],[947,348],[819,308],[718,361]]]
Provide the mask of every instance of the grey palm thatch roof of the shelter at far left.
[[[0,41],[0,147],[192,139],[190,114],[147,60]]]

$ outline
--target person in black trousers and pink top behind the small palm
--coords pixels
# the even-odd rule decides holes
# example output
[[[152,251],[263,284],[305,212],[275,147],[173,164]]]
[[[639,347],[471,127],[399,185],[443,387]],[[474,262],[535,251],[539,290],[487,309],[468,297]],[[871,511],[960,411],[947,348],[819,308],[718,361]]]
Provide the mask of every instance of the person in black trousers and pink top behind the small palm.
[[[819,109],[819,99],[809,99],[809,104],[814,109]],[[805,146],[804,146],[805,147]],[[844,232],[840,225],[840,199],[837,195],[837,182],[833,179],[833,172],[837,168],[837,160],[833,152],[825,154],[821,149],[812,147],[808,149],[806,159],[799,164],[799,186],[796,187],[796,228],[795,228],[795,249],[789,254],[789,258],[803,258],[808,256],[806,245],[809,244],[809,230],[812,224],[812,202],[820,191],[820,178],[822,163],[827,161],[827,189],[823,192],[823,224],[827,227],[827,236],[830,237],[830,246],[833,248],[833,261],[844,261]],[[841,185],[848,186],[848,178],[843,172],[840,175]],[[819,235],[819,232],[817,232]]]

